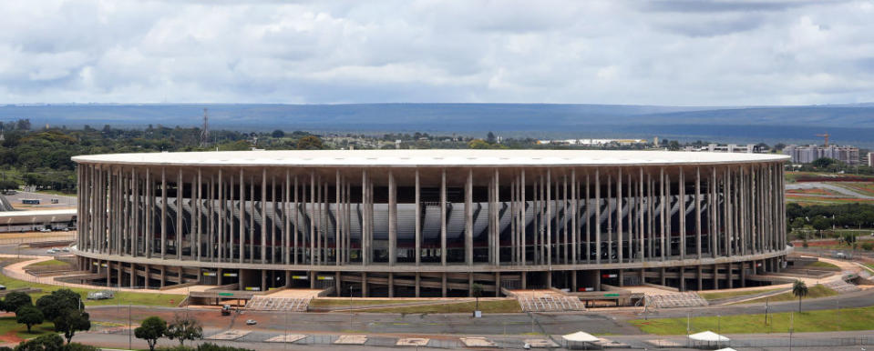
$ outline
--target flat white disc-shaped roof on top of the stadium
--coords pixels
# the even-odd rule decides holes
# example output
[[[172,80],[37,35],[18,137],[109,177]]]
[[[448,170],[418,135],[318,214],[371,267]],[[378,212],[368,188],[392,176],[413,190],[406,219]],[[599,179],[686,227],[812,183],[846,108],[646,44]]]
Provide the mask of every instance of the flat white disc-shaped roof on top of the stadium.
[[[77,163],[212,166],[719,165],[775,162],[787,155],[591,150],[270,150],[78,155]]]

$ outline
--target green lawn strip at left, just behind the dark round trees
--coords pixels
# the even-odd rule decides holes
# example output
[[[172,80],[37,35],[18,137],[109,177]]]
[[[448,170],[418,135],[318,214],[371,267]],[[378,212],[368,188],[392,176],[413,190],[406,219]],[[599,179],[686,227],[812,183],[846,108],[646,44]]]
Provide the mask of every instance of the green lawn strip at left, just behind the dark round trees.
[[[43,290],[42,293],[31,294],[34,301],[37,298],[47,295],[52,291],[61,288],[68,288],[73,290],[73,292],[77,293],[79,296],[82,296],[82,300],[85,301],[86,306],[108,306],[108,305],[137,305],[137,306],[177,306],[180,301],[185,298],[184,295],[170,295],[170,294],[151,294],[151,293],[130,293],[130,292],[116,292],[114,298],[110,298],[108,300],[97,300],[91,301],[87,300],[86,296],[88,292],[91,291],[99,291],[102,289],[93,288],[93,289],[85,289],[80,287],[66,287],[66,286],[49,286],[46,284],[37,284],[26,282],[24,280],[14,279],[8,276],[0,275],[0,284],[6,286],[8,289],[15,289],[20,287],[36,287]]]

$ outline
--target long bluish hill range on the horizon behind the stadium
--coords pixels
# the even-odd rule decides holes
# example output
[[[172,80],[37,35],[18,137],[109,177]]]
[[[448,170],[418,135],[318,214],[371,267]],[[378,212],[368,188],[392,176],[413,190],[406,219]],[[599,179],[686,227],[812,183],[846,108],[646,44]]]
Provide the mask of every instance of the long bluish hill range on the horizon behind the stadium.
[[[0,120],[33,125],[201,125],[213,128],[335,132],[424,131],[538,137],[646,137],[731,142],[815,143],[828,132],[839,144],[874,146],[874,104],[681,107],[547,104],[154,104],[3,105]]]

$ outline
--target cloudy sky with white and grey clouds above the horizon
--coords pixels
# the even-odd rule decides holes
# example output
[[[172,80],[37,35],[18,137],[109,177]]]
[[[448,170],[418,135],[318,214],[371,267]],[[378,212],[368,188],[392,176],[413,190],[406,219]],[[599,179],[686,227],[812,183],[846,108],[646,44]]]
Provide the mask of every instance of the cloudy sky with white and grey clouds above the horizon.
[[[3,1],[0,103],[874,102],[874,0]]]

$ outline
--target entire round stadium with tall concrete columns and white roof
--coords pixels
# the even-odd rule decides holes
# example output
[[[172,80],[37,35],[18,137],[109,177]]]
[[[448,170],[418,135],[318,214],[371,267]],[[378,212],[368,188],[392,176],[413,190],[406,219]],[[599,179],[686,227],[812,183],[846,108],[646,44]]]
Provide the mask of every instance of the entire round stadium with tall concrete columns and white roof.
[[[468,296],[744,286],[778,271],[784,155],[385,150],[82,155],[78,264],[108,286]]]

